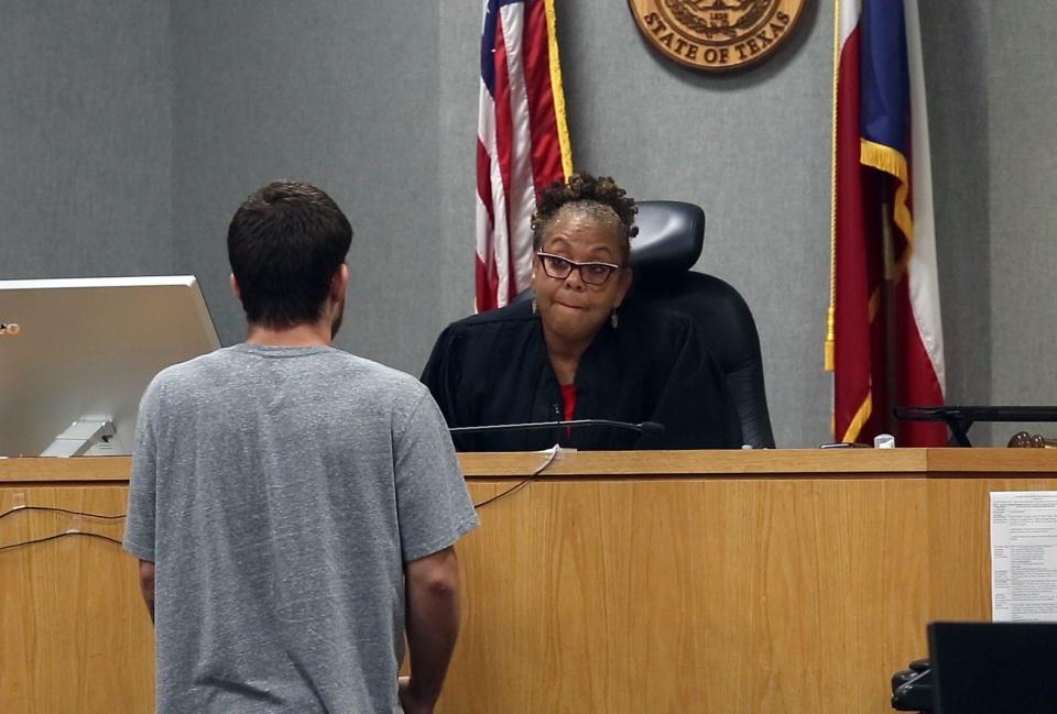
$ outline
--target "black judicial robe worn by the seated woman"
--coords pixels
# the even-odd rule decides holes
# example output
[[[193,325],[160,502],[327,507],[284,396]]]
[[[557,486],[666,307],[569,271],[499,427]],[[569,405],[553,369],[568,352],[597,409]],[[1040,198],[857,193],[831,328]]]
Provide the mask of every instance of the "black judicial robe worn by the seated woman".
[[[555,421],[562,393],[540,317],[528,301],[454,322],[422,381],[449,427]],[[625,304],[596,336],[576,372],[574,419],[656,421],[663,435],[614,427],[458,435],[459,451],[737,449],[741,422],[719,365],[690,318]]]

